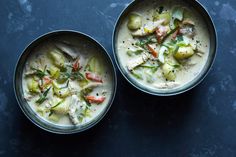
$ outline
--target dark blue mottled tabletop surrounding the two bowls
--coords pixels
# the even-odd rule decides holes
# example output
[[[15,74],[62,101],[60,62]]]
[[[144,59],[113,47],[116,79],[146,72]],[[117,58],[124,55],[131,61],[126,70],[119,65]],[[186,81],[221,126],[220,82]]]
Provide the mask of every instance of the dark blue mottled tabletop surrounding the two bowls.
[[[0,156],[236,156],[236,1],[200,0],[217,27],[219,47],[208,77],[174,97],[137,91],[118,73],[118,91],[105,118],[75,135],[54,135],[33,125],[12,87],[17,58],[39,35],[79,30],[111,53],[113,26],[129,0],[0,1]]]

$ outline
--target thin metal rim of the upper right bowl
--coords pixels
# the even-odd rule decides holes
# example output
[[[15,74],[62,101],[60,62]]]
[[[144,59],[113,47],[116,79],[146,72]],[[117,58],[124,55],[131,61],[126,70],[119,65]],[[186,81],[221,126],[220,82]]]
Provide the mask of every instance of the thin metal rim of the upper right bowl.
[[[124,14],[126,12],[129,12],[129,9],[134,6],[136,3],[140,2],[142,0],[133,0],[131,1],[122,11],[121,13],[119,14],[116,22],[115,22],[115,25],[114,25],[114,29],[113,29],[113,34],[112,34],[112,52],[113,52],[113,56],[114,56],[114,59],[115,59],[115,63],[119,69],[119,71],[121,72],[121,74],[123,75],[123,77],[133,86],[135,87],[136,89],[146,93],[146,94],[150,94],[150,95],[154,95],[154,96],[175,96],[175,95],[179,95],[179,94],[182,94],[182,93],[185,93],[191,89],[193,89],[194,87],[196,87],[197,85],[199,85],[205,78],[206,76],[208,75],[208,73],[210,72],[210,70],[212,69],[212,66],[215,62],[215,59],[216,59],[216,55],[217,55],[217,49],[218,49],[218,35],[217,35],[217,31],[216,31],[216,27],[215,27],[215,24],[213,22],[213,19],[210,15],[210,13],[208,12],[208,10],[205,8],[205,6],[203,4],[201,4],[198,0],[195,0],[195,1],[191,1],[192,3],[195,3],[196,5],[198,5],[200,7],[200,9],[205,12],[206,14],[206,17],[207,19],[209,19],[209,24],[212,26],[212,31],[213,31],[213,34],[214,34],[214,47],[212,48],[214,51],[214,55],[213,57],[211,58],[211,61],[210,61],[210,65],[209,67],[207,68],[207,70],[202,74],[202,76],[196,80],[196,82],[191,85],[191,86],[187,86],[185,89],[183,90],[179,90],[179,91],[175,91],[173,93],[159,93],[159,92],[154,92],[154,91],[148,91],[148,90],[145,90],[144,88],[142,88],[141,86],[139,86],[138,84],[135,84],[131,79],[129,79],[126,75],[125,75],[125,72],[124,70],[122,69],[122,65],[119,63],[118,61],[118,56],[117,56],[117,53],[116,53],[116,33],[118,31],[118,26],[119,26],[119,23],[122,21],[122,17],[124,16]]]

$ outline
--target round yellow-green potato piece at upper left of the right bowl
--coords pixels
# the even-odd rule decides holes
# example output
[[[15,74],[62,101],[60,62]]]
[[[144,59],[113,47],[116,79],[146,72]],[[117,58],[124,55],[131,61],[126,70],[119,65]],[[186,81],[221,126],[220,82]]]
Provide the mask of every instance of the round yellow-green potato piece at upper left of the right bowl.
[[[139,29],[142,26],[142,17],[137,13],[131,13],[127,26],[130,30]]]

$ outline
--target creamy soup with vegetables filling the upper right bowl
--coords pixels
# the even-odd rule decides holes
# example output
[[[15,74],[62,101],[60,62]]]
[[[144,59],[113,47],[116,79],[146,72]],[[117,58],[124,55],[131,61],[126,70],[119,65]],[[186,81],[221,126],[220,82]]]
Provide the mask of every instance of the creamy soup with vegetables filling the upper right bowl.
[[[121,68],[152,90],[184,86],[199,75],[209,55],[201,16],[182,2],[165,2],[140,2],[117,33]]]

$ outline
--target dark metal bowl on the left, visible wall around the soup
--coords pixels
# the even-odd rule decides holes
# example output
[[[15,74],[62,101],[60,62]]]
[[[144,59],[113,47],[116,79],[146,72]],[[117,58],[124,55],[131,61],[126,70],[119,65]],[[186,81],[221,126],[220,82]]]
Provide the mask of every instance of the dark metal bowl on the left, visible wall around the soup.
[[[31,52],[40,44],[43,42],[46,42],[51,39],[57,39],[57,38],[63,38],[66,36],[67,38],[76,38],[78,39],[82,45],[87,44],[90,47],[93,47],[97,50],[98,53],[102,53],[102,57],[105,59],[107,64],[110,67],[111,71],[111,76],[112,76],[112,83],[113,83],[113,90],[111,93],[111,98],[109,100],[109,103],[107,104],[106,108],[103,110],[102,113],[100,113],[96,118],[91,120],[89,123],[86,123],[84,125],[79,125],[79,126],[61,126],[61,125],[56,125],[54,123],[48,122],[41,118],[33,109],[29,106],[25,98],[23,97],[23,89],[22,89],[22,75],[23,75],[23,69],[25,67],[25,63],[27,58],[31,55]],[[23,111],[23,113],[28,117],[30,121],[32,121],[34,124],[36,124],[38,127],[52,132],[52,133],[58,133],[58,134],[72,134],[72,133],[77,133],[81,132],[84,130],[87,130],[91,127],[93,127],[95,124],[97,124],[107,113],[109,110],[114,97],[116,93],[116,86],[117,86],[117,78],[116,78],[116,71],[114,64],[108,54],[108,52],[105,50],[105,48],[99,44],[95,39],[92,37],[76,32],[76,31],[54,31],[50,32],[47,34],[44,34],[34,40],[32,43],[29,44],[21,54],[15,68],[15,74],[14,74],[14,91],[15,91],[15,96],[18,101],[18,104]]]

